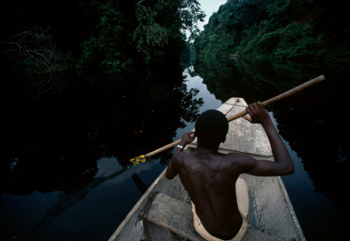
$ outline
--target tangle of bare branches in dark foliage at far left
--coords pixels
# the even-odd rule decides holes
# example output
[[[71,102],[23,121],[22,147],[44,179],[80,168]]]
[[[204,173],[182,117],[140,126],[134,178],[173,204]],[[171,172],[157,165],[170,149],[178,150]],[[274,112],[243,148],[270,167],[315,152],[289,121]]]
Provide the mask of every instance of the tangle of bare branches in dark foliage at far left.
[[[2,43],[0,60],[12,67],[13,76],[20,82],[18,91],[23,88],[26,92],[24,99],[60,92],[69,75],[69,54],[59,51],[47,32],[48,29],[34,27]]]

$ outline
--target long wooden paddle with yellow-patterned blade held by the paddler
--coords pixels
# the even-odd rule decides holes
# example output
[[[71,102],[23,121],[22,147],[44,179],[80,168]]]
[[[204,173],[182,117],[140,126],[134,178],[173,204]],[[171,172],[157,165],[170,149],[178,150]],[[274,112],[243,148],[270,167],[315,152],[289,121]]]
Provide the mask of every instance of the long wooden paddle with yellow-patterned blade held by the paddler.
[[[318,82],[321,82],[324,80],[325,80],[325,76],[323,76],[323,75],[318,76],[316,78],[313,78],[313,79],[311,79],[311,81],[307,81],[301,85],[298,85],[297,87],[295,87],[291,90],[288,90],[287,92],[284,92],[281,95],[277,95],[276,97],[273,97],[271,99],[267,99],[265,102],[262,102],[262,106],[267,106],[269,104],[272,104],[274,102],[279,101],[280,99],[284,99],[286,97],[289,97],[290,95],[294,95],[296,92],[299,92],[300,90],[304,90],[305,88],[308,88],[309,86],[314,85],[315,83],[318,83]],[[242,116],[246,116],[246,114],[247,114],[246,111],[241,111],[239,113],[236,113],[235,115],[228,117],[228,122],[233,121],[233,120],[240,118]],[[191,137],[193,137],[193,135],[191,135]],[[148,156],[153,156],[157,153],[160,153],[160,152],[165,151],[169,148],[172,148],[173,146],[176,146],[180,143],[181,143],[181,139],[179,139],[176,142],[173,142],[171,144],[167,144],[166,146],[163,146],[160,149],[157,149],[155,151],[147,153],[146,155],[141,155],[141,156],[138,156],[136,158],[132,158],[132,159],[130,159],[130,161],[134,164],[139,164],[140,161],[144,163]]]

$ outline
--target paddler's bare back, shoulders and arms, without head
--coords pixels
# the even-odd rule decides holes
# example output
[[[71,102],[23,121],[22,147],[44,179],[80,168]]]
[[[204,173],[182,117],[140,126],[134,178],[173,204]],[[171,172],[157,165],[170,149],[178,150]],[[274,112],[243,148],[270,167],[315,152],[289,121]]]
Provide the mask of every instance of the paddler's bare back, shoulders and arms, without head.
[[[252,123],[260,123],[265,129],[272,147],[274,162],[255,160],[241,153],[221,155],[218,153],[220,143],[214,146],[209,146],[209,144],[203,146],[198,137],[197,151],[183,153],[181,148],[178,148],[165,174],[168,179],[179,174],[181,183],[195,204],[195,211],[204,228],[211,235],[223,240],[230,240],[234,237],[242,225],[235,190],[240,174],[277,176],[293,173],[294,170],[286,146],[281,141],[262,104],[260,102],[251,104],[247,111],[251,118],[246,117],[246,119]],[[181,146],[186,146],[193,141],[190,134],[191,132],[188,132],[183,135]],[[196,134],[199,134],[197,123]]]

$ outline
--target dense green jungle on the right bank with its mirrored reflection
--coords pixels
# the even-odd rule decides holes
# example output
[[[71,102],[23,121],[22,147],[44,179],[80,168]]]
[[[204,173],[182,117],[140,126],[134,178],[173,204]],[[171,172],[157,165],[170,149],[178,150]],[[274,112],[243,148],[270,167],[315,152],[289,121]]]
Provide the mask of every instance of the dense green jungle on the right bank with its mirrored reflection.
[[[349,19],[344,1],[228,0],[192,46],[196,71],[216,79],[207,84],[220,99],[225,81],[287,90],[330,69],[349,74]]]

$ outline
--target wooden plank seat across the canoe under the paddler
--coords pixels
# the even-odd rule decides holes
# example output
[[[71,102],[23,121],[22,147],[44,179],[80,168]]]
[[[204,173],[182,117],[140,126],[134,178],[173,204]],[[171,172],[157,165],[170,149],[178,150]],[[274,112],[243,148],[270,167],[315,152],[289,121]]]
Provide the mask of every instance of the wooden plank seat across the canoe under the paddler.
[[[141,212],[140,216],[146,218],[163,228],[186,237],[192,241],[205,241],[193,226],[192,206],[176,198],[169,197],[163,193],[155,196],[151,208],[146,212]],[[281,241],[279,238],[266,233],[261,233],[248,226],[244,241]]]

